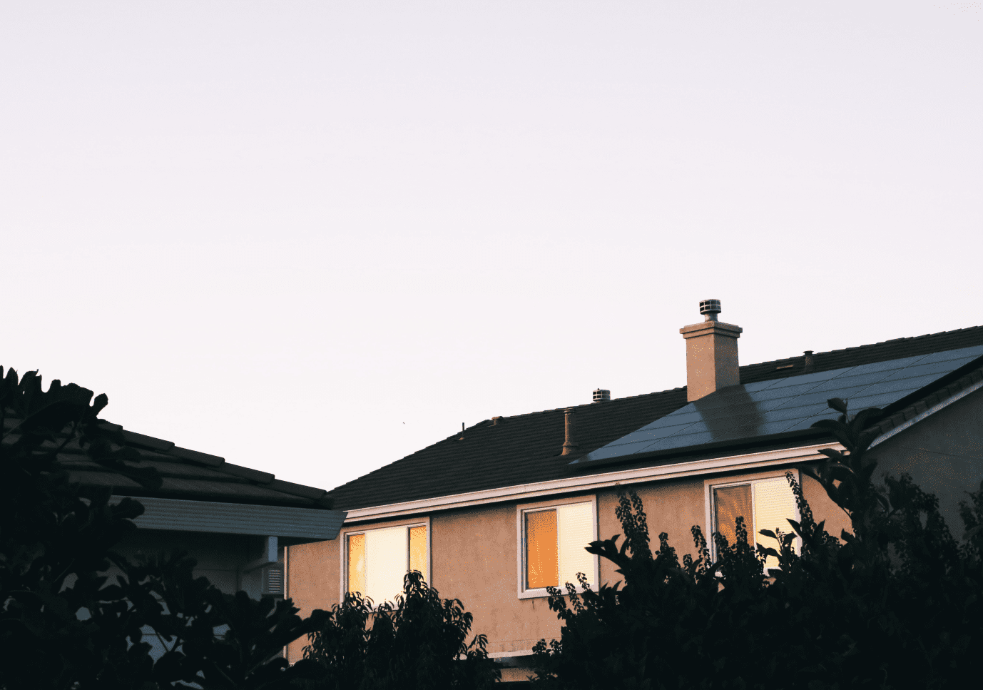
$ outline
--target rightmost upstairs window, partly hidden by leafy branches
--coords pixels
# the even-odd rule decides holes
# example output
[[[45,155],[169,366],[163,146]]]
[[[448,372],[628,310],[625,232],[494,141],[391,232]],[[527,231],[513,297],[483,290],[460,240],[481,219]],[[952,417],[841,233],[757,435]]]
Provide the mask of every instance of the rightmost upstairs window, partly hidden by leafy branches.
[[[712,531],[720,532],[729,545],[737,541],[738,516],[744,518],[748,539],[753,540],[753,544],[771,546],[776,550],[779,548],[776,540],[758,533],[761,530],[771,530],[776,533],[781,531],[787,535],[792,531],[788,520],[798,520],[795,494],[792,493],[784,477],[735,482],[708,486],[708,488],[712,504]],[[794,546],[798,548],[797,540]],[[775,556],[769,556],[765,560],[766,570],[778,566],[779,562]]]

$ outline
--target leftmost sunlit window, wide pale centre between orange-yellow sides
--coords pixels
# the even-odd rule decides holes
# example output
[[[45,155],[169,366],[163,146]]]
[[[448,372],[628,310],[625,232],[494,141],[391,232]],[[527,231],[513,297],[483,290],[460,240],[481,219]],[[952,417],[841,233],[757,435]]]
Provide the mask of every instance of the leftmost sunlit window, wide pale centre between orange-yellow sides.
[[[346,591],[361,592],[375,604],[393,601],[403,591],[403,576],[419,570],[428,576],[427,525],[400,525],[345,535]]]

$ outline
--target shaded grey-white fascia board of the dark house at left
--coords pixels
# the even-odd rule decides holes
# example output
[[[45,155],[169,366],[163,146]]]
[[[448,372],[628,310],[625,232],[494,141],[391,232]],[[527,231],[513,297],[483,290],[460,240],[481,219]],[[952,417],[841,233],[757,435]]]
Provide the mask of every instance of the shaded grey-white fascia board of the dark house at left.
[[[117,503],[125,497],[113,496],[112,502]],[[138,528],[145,530],[256,535],[320,542],[335,539],[345,520],[343,510],[130,497],[144,505],[144,514],[134,522]]]

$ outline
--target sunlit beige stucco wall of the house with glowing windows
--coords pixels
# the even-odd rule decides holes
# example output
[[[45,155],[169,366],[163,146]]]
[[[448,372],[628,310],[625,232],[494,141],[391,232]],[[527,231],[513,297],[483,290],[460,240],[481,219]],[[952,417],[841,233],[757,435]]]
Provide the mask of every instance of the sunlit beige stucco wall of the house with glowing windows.
[[[781,476],[784,470],[768,473]],[[751,475],[718,475],[714,481]],[[760,476],[760,473],[754,476]],[[690,528],[700,525],[707,534],[706,481],[708,477],[634,485],[648,515],[653,546],[659,534],[668,533],[669,543],[680,557],[694,552]],[[818,519],[824,516],[833,534],[845,526],[842,513],[811,480],[805,482],[806,498]],[[557,500],[569,502],[584,496],[597,498],[598,536],[607,539],[621,533],[614,514],[617,489],[589,494],[566,494]],[[474,615],[473,634],[489,638],[489,651],[508,653],[530,650],[540,639],[558,637],[560,624],[545,598],[518,597],[517,508],[535,503],[498,503],[470,509],[435,512],[429,516],[431,530],[431,584],[440,596],[459,599]],[[388,522],[364,523],[346,529],[371,529],[418,522],[422,516]],[[337,540],[290,546],[288,553],[288,596],[307,614],[314,608],[330,608],[341,598],[341,553],[345,530]],[[623,540],[623,538],[622,538]],[[601,582],[619,579],[614,565],[600,563]],[[295,642],[289,659],[300,659],[306,640]],[[514,675],[510,671],[511,674]]]

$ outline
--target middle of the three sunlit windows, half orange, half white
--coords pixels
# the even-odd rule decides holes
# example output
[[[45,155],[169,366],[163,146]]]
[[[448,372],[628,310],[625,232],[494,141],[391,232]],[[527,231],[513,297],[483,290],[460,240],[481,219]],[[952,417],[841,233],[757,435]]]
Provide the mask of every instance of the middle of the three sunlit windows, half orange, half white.
[[[519,596],[545,597],[547,587],[597,581],[597,558],[585,548],[597,539],[594,501],[519,510]]]

